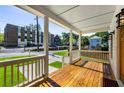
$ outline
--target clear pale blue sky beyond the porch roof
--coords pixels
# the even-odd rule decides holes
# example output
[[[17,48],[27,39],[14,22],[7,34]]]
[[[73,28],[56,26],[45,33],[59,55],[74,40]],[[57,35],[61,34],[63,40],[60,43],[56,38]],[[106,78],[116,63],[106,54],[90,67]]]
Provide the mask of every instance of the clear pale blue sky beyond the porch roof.
[[[35,15],[24,11],[22,9],[19,9],[15,6],[7,6],[7,5],[1,5],[0,6],[0,31],[4,31],[4,27],[7,23],[9,24],[15,24],[18,26],[25,26],[29,24],[36,24]],[[44,22],[43,18],[39,18],[39,24],[42,28],[42,31],[44,29]],[[62,28],[52,22],[49,22],[49,32],[51,32],[54,35],[61,35],[62,32],[69,32],[67,29]],[[91,35],[91,34],[86,34]]]

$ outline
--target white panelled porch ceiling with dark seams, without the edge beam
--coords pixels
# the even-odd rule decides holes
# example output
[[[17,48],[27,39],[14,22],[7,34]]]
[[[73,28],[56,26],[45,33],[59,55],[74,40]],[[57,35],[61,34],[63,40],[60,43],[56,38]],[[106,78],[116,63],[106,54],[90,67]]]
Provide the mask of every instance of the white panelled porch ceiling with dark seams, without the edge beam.
[[[45,8],[78,28],[82,33],[107,31],[115,10],[115,6],[111,5],[48,5]]]

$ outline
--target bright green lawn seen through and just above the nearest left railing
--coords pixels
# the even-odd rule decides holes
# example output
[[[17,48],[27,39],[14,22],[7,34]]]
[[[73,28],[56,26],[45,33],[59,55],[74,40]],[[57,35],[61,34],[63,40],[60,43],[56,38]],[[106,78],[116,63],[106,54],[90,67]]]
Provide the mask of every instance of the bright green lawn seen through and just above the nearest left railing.
[[[29,56],[14,56],[14,57],[6,57],[6,58],[0,58],[0,61],[7,61],[7,60],[13,60],[13,59],[19,59],[19,58],[28,58]],[[13,78],[13,85],[17,85],[17,65],[14,65],[13,67],[13,71],[14,71],[14,78]],[[7,66],[7,71],[6,71],[6,86],[11,86],[11,67]],[[23,77],[24,75],[19,72],[19,83],[23,82]],[[24,77],[24,81],[26,80],[26,78]],[[4,68],[0,67],[0,86],[3,86],[3,82],[4,81]]]

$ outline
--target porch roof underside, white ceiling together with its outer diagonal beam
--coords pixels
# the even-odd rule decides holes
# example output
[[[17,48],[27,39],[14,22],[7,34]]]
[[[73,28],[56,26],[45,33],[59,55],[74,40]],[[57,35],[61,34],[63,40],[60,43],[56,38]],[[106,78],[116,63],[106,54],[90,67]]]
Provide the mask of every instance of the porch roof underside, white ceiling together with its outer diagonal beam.
[[[18,5],[17,7],[78,33],[108,31],[115,11],[113,5]]]

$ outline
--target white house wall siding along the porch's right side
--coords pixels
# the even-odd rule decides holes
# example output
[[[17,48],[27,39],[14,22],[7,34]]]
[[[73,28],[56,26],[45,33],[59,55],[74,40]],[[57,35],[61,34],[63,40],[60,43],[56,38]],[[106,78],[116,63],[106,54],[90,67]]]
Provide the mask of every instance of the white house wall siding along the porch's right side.
[[[120,73],[120,71],[119,71],[119,46],[118,46],[119,42],[118,42],[118,31],[116,29],[117,18],[115,16],[116,16],[116,14],[118,14],[121,11],[122,8],[124,8],[124,5],[116,6],[115,13],[114,13],[114,16],[112,18],[112,23],[110,25],[110,31],[109,31],[109,32],[115,31],[115,34],[113,34],[113,50],[112,50],[113,57],[112,58],[110,57],[110,64],[111,64],[113,73],[115,75],[115,78],[117,79],[117,81],[119,83],[119,86],[124,86],[124,85],[120,81],[120,74],[119,74]],[[110,41],[109,41],[109,43],[110,43]],[[111,44],[109,44],[109,45],[111,48]]]

